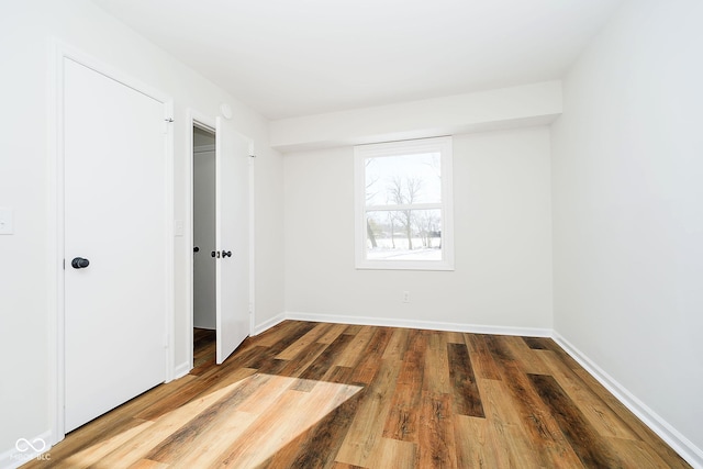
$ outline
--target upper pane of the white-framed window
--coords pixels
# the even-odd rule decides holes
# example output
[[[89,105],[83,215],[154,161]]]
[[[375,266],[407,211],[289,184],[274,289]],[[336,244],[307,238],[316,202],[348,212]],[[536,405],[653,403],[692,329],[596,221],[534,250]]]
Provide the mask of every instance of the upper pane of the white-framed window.
[[[440,154],[367,158],[366,205],[442,202]]]

